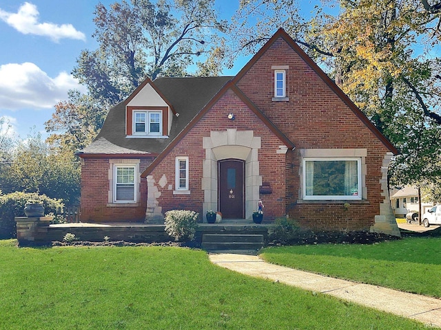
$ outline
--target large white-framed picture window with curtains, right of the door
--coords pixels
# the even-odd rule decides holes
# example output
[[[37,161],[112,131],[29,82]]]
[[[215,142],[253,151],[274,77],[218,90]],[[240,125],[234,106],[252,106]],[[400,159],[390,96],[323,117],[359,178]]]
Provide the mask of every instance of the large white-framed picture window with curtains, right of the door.
[[[303,199],[362,199],[361,159],[303,159]]]

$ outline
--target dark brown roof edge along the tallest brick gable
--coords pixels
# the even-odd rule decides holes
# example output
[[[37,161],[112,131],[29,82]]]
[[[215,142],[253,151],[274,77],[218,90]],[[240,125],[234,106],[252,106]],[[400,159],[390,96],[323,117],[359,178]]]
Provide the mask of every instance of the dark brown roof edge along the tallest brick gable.
[[[277,32],[271,36],[271,39],[263,45],[262,48],[252,57],[252,59],[243,67],[240,72],[233,78],[233,82],[236,84],[238,81],[245,76],[245,74],[248,72],[248,70],[260,59],[263,54],[273,45],[273,43],[279,39],[282,38],[286,43],[302,58],[305,63],[311,67],[311,69],[322,78],[322,80],[329,86],[329,88],[334,91],[334,93],[355,113],[355,115],[367,126],[371,132],[376,135],[378,140],[380,140],[384,146],[386,146],[391,153],[394,155],[397,155],[399,152],[393,144],[389,140],[387,140],[387,137],[385,137],[378,128],[367,118],[365,113],[363,113],[357,106],[354,104],[351,99],[334,83],[334,80],[329,78],[325,72],[323,72],[322,69],[317,65],[316,62],[314,62],[297,44],[296,42],[283,30],[283,28],[280,28],[277,30]]]

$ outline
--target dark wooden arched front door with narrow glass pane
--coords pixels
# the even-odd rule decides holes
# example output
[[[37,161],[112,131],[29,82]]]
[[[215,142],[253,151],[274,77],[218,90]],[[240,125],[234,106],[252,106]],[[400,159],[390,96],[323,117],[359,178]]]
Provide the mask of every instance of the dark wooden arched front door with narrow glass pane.
[[[219,210],[224,219],[245,218],[245,184],[243,160],[226,159],[218,162]]]

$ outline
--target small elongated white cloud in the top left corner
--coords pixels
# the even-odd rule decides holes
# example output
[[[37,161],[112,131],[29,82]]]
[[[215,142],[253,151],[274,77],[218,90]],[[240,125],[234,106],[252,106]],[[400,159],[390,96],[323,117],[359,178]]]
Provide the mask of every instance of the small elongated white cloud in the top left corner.
[[[17,13],[6,12],[0,9],[0,19],[23,34],[48,36],[55,42],[63,38],[85,41],[85,34],[76,30],[72,24],[39,23],[37,5],[32,3],[25,2]]]

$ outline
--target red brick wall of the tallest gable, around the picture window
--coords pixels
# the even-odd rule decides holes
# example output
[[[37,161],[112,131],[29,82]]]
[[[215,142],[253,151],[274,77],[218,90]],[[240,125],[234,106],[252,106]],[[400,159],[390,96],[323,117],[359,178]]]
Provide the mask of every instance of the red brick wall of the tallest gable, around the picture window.
[[[289,102],[274,102],[272,65],[289,65]],[[387,148],[292,48],[278,39],[238,82],[238,87],[294,142],[286,164],[287,212],[307,228],[368,230],[380,214],[380,167]],[[301,148],[367,148],[367,203],[297,203]],[[350,203],[350,202],[349,202]]]

